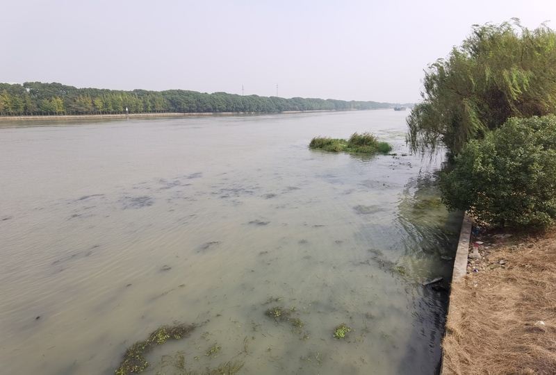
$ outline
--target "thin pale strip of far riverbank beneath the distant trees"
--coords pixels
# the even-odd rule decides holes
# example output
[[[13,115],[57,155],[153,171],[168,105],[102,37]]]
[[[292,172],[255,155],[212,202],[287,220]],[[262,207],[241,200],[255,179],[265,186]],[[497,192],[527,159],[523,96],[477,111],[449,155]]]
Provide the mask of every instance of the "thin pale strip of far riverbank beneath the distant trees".
[[[234,115],[268,115],[271,113],[320,113],[347,112],[349,110],[284,110],[282,112],[192,112],[192,113],[115,113],[109,115],[29,115],[29,116],[0,116],[1,120],[60,120],[60,119],[124,119],[124,118],[153,118],[153,117],[211,117]]]

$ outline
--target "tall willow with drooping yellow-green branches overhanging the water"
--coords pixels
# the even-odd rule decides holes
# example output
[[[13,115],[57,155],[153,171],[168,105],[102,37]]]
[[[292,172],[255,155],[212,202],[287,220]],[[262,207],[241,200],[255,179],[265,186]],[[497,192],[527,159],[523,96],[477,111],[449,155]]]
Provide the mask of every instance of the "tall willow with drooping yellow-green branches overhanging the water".
[[[444,144],[458,153],[509,117],[556,113],[556,33],[518,19],[474,25],[448,58],[429,66],[424,87],[407,119],[414,151]]]

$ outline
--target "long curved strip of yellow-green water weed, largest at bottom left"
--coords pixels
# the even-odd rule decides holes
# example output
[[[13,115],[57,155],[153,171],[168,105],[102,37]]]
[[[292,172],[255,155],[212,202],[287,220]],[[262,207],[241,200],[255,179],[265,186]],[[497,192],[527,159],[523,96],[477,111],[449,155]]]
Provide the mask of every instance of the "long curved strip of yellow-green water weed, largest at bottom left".
[[[153,331],[147,340],[138,341],[131,345],[122,358],[120,366],[115,370],[115,375],[139,374],[149,367],[145,356],[157,345],[164,344],[167,340],[180,340],[185,338],[195,329],[195,324],[177,324],[175,326],[161,326]]]

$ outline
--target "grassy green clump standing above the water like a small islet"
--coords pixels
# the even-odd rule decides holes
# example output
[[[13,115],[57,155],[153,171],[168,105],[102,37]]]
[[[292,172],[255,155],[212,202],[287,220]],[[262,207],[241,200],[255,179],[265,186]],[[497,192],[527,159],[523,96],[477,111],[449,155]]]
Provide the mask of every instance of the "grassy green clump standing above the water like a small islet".
[[[375,135],[365,132],[353,133],[349,140],[315,137],[309,143],[309,149],[349,153],[389,153],[392,147],[386,142],[379,142]]]

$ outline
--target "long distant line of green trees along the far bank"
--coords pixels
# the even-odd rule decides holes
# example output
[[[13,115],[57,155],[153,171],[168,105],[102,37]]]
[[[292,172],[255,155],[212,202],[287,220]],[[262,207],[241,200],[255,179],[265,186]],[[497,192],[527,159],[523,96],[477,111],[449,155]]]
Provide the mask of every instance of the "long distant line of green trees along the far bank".
[[[124,113],[282,112],[287,110],[368,110],[390,103],[259,97],[188,90],[106,90],[61,83],[0,83],[0,115],[90,115]]]

